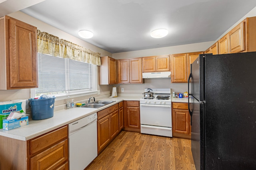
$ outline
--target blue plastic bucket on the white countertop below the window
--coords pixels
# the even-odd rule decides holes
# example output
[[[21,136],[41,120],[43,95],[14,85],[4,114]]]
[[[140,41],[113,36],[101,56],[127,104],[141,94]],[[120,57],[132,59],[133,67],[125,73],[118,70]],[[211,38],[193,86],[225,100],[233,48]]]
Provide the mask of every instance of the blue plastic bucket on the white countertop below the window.
[[[33,120],[42,120],[53,117],[55,98],[30,99]]]

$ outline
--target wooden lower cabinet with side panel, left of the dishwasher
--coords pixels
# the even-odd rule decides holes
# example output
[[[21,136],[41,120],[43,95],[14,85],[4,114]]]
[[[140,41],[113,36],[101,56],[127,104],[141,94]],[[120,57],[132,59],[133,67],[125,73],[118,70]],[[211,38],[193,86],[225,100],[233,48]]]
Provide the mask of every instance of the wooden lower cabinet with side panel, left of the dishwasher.
[[[0,170],[68,170],[67,125],[28,141],[0,136],[0,143]]]

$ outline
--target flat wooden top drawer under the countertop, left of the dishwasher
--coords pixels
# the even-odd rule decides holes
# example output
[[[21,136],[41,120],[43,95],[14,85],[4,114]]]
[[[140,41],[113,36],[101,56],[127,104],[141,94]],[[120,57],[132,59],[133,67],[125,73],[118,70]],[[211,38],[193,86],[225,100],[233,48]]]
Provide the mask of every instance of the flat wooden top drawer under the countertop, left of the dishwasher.
[[[60,129],[57,129],[56,131],[52,131],[50,133],[47,133],[46,135],[38,137],[36,139],[32,139],[29,142],[30,154],[34,154],[39,150],[46,149],[49,146],[53,145],[54,143],[57,143],[58,141],[62,141],[67,137],[68,137],[68,127],[65,126]]]

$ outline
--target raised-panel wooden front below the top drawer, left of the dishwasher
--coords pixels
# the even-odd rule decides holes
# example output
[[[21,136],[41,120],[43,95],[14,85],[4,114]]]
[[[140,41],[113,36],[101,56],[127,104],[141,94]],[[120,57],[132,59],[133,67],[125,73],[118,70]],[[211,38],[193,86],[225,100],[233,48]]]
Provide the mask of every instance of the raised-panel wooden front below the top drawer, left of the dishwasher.
[[[68,160],[68,139],[30,158],[31,170],[58,168]]]

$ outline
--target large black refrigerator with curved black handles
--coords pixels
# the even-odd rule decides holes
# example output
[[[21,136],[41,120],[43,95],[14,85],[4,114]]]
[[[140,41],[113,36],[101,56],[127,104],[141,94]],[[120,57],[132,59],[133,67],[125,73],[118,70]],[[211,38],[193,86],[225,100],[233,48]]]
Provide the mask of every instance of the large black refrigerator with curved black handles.
[[[256,52],[199,55],[189,79],[196,170],[255,170]]]

